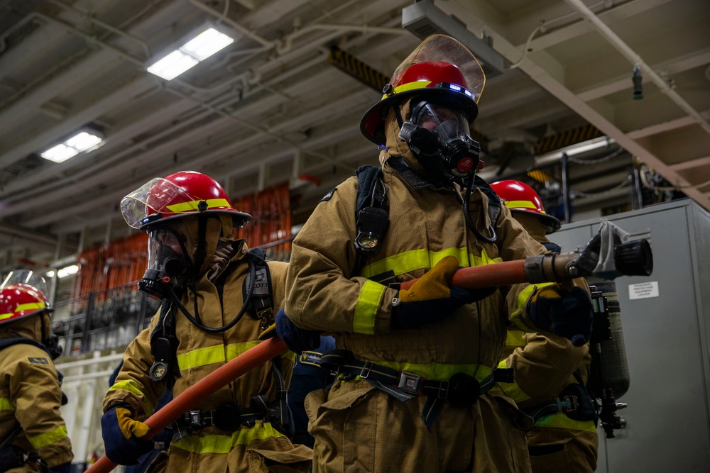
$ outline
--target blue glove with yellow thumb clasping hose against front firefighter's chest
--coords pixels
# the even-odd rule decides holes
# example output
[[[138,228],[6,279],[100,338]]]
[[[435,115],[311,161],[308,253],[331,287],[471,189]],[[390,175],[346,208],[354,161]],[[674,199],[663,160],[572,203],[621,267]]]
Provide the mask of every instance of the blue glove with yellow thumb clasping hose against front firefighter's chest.
[[[447,256],[409,289],[399,291],[392,304],[392,328],[420,328],[442,321],[464,304],[486,299],[496,287],[462,289],[449,287],[449,279],[459,269],[459,260]]]

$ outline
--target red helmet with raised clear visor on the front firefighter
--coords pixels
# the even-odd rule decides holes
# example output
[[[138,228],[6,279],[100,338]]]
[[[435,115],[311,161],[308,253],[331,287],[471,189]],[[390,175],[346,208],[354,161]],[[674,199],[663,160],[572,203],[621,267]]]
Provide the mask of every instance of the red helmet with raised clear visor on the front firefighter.
[[[389,109],[413,96],[452,101],[472,123],[485,83],[481,65],[464,45],[447,35],[431,35],[395,70],[381,101],[365,112],[360,130],[373,143],[383,143]]]

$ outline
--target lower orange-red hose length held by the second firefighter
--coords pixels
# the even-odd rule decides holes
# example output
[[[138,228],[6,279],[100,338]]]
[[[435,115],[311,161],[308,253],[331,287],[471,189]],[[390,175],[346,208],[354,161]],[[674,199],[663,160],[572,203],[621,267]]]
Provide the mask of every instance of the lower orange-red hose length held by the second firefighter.
[[[226,365],[215,369],[214,372],[200,379],[197,383],[191,386],[179,396],[175,396],[173,401],[165,404],[160,411],[146,419],[146,424],[151,430],[148,431],[143,440],[150,440],[153,435],[163,430],[165,427],[173,423],[175,419],[182,416],[182,413],[188,411],[192,406],[207,398],[217,389],[226,386],[234,379],[246,374],[251,369],[263,365],[273,357],[283,354],[288,350],[283,341],[278,338],[269,338],[268,340],[259,343],[256,347],[246,350],[238,357],[234,358]],[[107,473],[116,467],[114,462],[111,462],[105,455],[92,464],[84,473]]]

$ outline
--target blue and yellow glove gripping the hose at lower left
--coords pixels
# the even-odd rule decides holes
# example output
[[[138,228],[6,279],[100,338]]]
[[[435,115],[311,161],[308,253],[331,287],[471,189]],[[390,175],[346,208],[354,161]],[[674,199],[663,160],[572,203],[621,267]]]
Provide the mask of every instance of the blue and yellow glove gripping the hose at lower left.
[[[106,456],[116,464],[138,464],[138,458],[155,447],[151,440],[141,440],[150,430],[148,425],[132,416],[129,406],[119,405],[110,408],[101,418]]]

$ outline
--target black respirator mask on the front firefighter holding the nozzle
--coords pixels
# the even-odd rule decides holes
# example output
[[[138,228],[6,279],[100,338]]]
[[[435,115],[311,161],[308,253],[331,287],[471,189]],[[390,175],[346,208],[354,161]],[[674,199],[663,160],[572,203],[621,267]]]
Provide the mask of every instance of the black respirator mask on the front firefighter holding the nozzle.
[[[481,147],[468,130],[469,121],[456,106],[413,101],[399,138],[434,177],[452,182],[472,176],[479,165]]]

